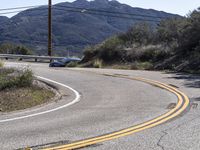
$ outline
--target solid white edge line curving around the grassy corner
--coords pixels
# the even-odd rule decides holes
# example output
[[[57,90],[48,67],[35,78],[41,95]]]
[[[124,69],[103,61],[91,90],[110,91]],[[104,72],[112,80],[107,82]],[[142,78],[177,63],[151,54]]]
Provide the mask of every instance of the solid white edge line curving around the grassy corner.
[[[71,88],[71,87],[69,87],[69,86],[67,86],[65,84],[62,84],[62,83],[59,83],[59,82],[56,82],[56,81],[53,81],[53,80],[50,80],[50,79],[47,79],[47,78],[44,78],[44,77],[41,77],[41,76],[36,76],[36,77],[39,78],[39,79],[46,80],[46,81],[52,82],[54,84],[63,86],[65,88],[68,88],[69,90],[71,90],[71,91],[74,92],[74,94],[76,95],[76,98],[72,102],[70,102],[68,104],[65,104],[63,106],[60,106],[60,107],[57,107],[57,108],[54,108],[54,109],[51,109],[51,110],[47,110],[47,111],[43,111],[43,112],[31,114],[31,115],[26,115],[26,116],[16,117],[16,118],[10,118],[10,119],[5,119],[5,120],[0,120],[0,123],[5,123],[5,122],[10,122],[10,121],[15,121],[15,120],[20,120],[20,119],[25,119],[25,118],[30,118],[30,117],[35,117],[35,116],[47,114],[47,113],[50,113],[50,112],[54,112],[54,111],[57,111],[57,110],[69,107],[69,106],[71,106],[71,105],[73,105],[75,103],[78,103],[80,101],[81,95],[79,94],[79,92],[77,92],[73,88]]]

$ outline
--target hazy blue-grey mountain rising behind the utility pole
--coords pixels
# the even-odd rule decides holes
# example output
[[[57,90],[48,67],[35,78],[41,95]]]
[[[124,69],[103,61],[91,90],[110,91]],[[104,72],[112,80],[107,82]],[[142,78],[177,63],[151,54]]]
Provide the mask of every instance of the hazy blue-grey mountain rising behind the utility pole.
[[[32,47],[37,54],[46,54],[47,10],[47,6],[42,6],[23,11],[10,19],[0,17],[0,42],[22,43]],[[80,52],[87,45],[126,31],[138,21],[149,20],[149,23],[156,25],[161,18],[177,16],[153,9],[131,7],[116,0],[59,3],[53,6],[54,53],[66,55],[66,50]]]

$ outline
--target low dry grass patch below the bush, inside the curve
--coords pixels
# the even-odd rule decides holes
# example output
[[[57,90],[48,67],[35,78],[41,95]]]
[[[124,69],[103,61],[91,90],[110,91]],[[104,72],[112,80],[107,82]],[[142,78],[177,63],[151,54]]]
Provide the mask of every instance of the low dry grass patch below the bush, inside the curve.
[[[0,112],[23,110],[50,101],[55,94],[36,86],[0,91]]]

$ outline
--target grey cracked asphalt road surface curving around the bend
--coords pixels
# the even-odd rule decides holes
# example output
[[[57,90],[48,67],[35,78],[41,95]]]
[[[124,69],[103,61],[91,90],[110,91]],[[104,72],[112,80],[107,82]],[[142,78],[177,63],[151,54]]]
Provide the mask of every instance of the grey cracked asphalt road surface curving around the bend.
[[[10,64],[16,65],[16,64]],[[24,66],[24,64],[17,64]],[[51,69],[47,64],[29,64],[34,73],[68,85],[81,95],[80,101],[57,111],[49,111],[76,98],[73,91],[58,85],[63,99],[25,111],[0,114],[0,149],[10,150],[40,145],[63,145],[113,133],[146,122],[170,111],[177,103],[173,93],[150,84],[107,76],[153,79],[177,87],[191,100],[182,115],[162,125],[84,149],[196,150],[200,148],[200,78],[185,74],[112,69]],[[41,148],[41,147],[40,147]]]

